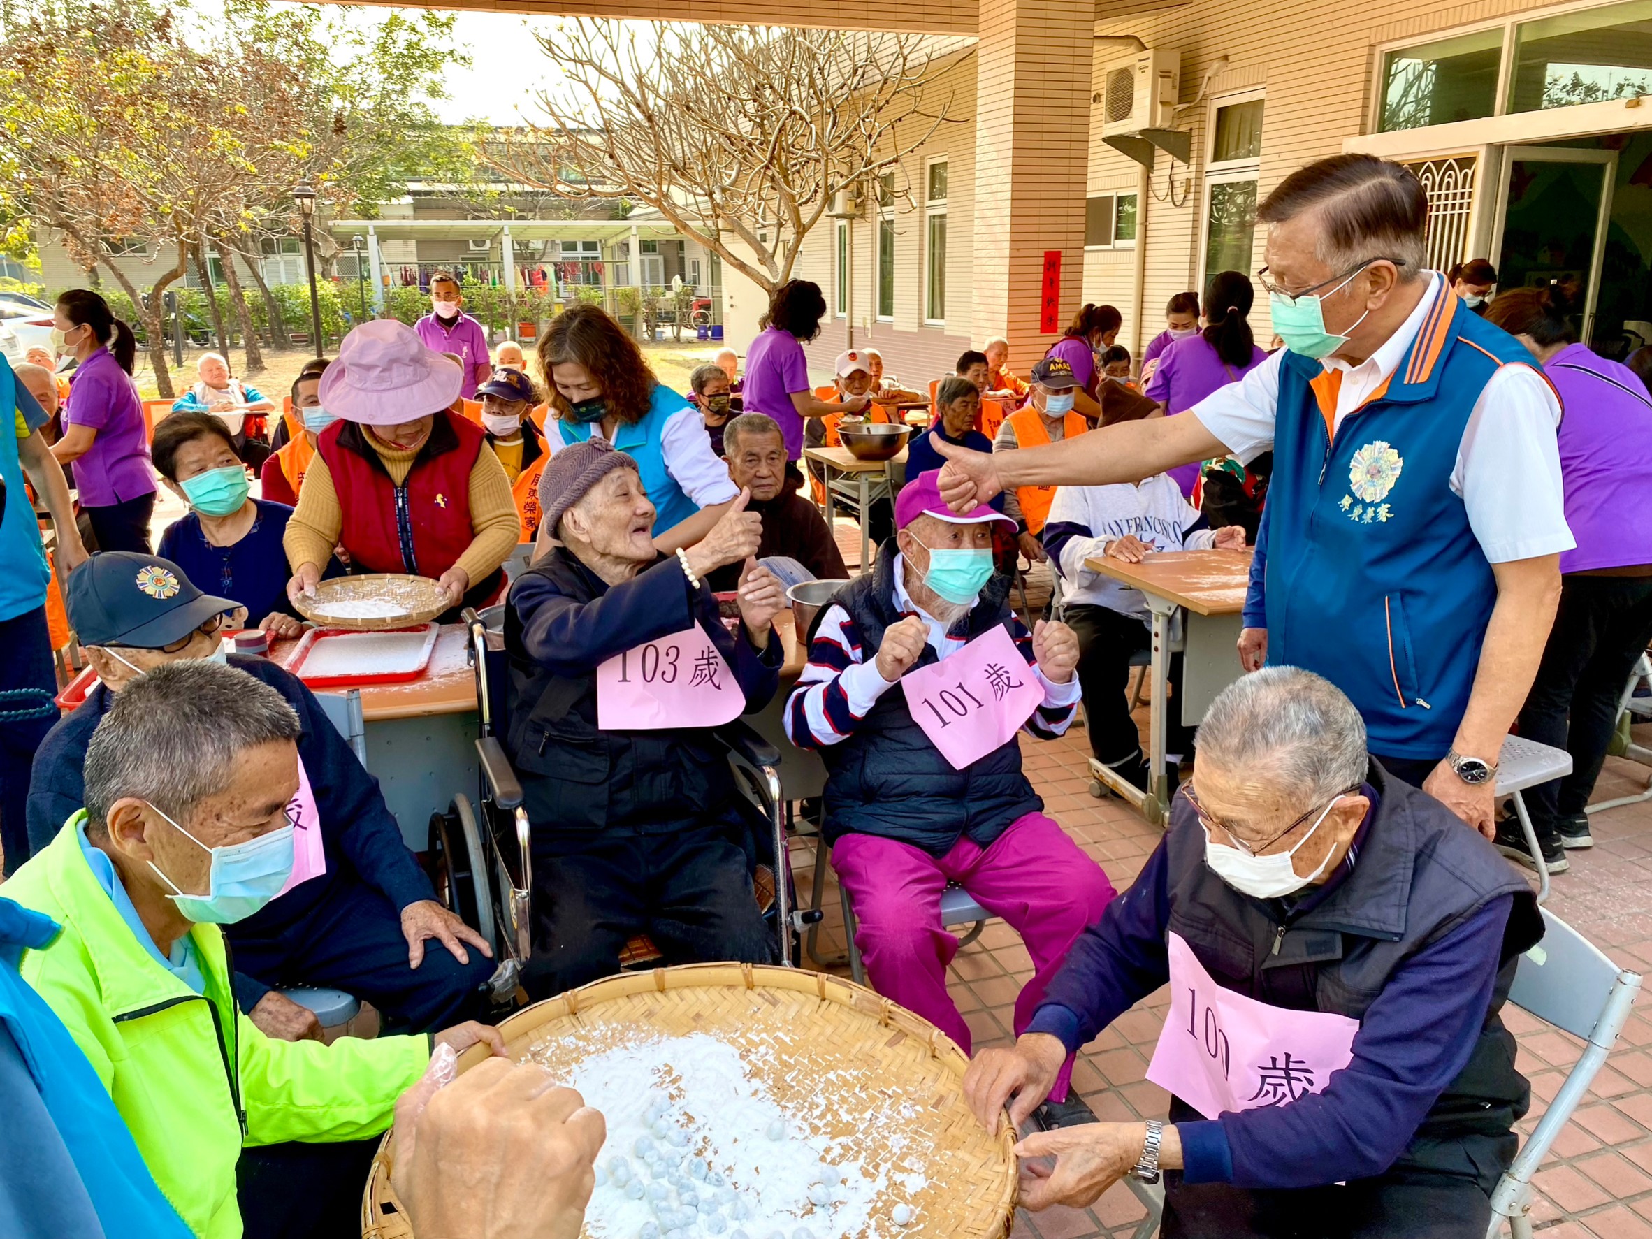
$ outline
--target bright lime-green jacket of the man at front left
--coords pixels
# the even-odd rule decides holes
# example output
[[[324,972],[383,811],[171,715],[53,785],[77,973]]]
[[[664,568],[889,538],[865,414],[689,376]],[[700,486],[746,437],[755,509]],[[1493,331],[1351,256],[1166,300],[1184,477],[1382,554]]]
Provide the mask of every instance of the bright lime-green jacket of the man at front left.
[[[81,816],[5,884],[8,899],[63,925],[51,947],[25,952],[23,978],[86,1052],[190,1229],[238,1239],[243,1143],[378,1135],[425,1072],[430,1041],[271,1041],[235,1006],[216,925],[190,930],[206,975],[206,993],[197,995],[116,912],[81,854]]]

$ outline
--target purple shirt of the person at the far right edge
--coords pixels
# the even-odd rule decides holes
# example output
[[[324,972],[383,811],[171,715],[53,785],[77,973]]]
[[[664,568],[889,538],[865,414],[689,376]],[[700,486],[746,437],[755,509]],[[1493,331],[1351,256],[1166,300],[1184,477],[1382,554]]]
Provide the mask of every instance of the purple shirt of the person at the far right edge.
[[[1652,401],[1635,372],[1569,344],[1543,373],[1559,392],[1559,474],[1566,524],[1578,540],[1559,570],[1652,563]]]

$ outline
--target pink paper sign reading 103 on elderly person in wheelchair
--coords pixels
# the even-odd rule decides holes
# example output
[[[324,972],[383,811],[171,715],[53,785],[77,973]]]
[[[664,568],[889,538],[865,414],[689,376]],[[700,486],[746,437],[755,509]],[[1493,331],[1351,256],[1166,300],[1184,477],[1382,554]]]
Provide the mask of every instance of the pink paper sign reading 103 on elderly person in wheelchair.
[[[742,710],[745,692],[699,624],[596,667],[596,725],[605,732],[720,727]]]

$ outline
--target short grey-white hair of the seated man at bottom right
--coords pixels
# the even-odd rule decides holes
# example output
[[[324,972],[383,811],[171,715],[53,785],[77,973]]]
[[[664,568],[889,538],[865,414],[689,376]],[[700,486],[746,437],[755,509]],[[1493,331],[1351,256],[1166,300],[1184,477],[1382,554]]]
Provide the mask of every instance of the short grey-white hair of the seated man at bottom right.
[[[1222,689],[1199,724],[1199,762],[1267,781],[1308,809],[1365,781],[1365,720],[1302,667],[1262,667]]]

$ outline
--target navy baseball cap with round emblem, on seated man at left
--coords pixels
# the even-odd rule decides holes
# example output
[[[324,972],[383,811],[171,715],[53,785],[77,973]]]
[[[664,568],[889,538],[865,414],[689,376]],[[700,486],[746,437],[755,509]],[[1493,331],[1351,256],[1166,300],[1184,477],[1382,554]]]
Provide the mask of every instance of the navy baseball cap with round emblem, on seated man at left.
[[[240,606],[197,590],[172,560],[131,550],[93,555],[69,573],[66,595],[83,646],[160,649]]]

